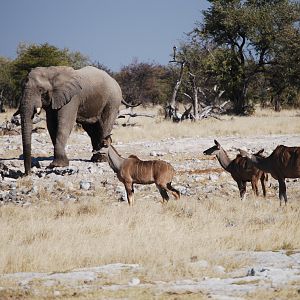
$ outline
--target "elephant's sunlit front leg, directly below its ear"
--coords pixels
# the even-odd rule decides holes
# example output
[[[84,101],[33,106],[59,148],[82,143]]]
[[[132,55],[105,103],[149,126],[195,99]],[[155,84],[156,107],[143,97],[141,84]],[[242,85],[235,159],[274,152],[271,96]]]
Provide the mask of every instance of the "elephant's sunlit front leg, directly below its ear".
[[[66,155],[66,144],[75,124],[77,106],[72,101],[57,111],[57,132],[54,143],[54,160],[49,168],[66,167],[69,159]]]

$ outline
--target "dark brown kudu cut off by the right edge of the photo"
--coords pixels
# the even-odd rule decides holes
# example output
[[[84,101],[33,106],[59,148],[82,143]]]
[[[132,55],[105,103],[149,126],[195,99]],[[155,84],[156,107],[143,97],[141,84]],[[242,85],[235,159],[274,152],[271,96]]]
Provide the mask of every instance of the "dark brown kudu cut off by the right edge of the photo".
[[[279,145],[268,157],[257,157],[240,150],[241,155],[250,158],[253,165],[278,180],[279,200],[287,204],[285,178],[300,177],[300,147]]]

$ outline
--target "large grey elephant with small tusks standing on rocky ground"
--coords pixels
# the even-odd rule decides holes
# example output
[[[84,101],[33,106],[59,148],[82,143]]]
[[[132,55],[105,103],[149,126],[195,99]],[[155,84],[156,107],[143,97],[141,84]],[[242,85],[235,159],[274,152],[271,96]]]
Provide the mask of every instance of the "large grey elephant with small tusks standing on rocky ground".
[[[54,146],[54,159],[49,166],[53,168],[69,165],[65,146],[75,122],[81,124],[91,138],[92,161],[101,160],[99,150],[113,128],[121,102],[128,105],[119,84],[95,67],[33,69],[24,83],[19,107],[25,174],[31,169],[32,119],[41,108],[46,111],[47,128]]]

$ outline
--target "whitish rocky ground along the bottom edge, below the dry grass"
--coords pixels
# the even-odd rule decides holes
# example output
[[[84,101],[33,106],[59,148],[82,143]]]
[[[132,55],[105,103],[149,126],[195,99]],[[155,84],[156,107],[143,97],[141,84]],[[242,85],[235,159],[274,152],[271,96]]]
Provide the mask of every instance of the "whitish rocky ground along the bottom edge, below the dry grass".
[[[251,298],[254,291],[275,290],[276,288],[293,289],[298,287],[294,295],[300,297],[300,252],[236,252],[231,255],[251,258],[254,263],[249,268],[232,272],[231,277],[154,281],[142,283],[139,272],[142,266],[138,264],[110,264],[105,266],[74,269],[64,273],[14,273],[1,276],[15,286],[15,291],[28,291],[34,297],[93,297],[101,291],[101,299],[128,299],[120,297],[126,291],[130,299],[180,299],[186,295],[193,299],[244,299]],[[200,267],[209,268],[206,261],[197,262]],[[220,270],[220,273],[222,270]],[[122,284],[111,283],[122,277]],[[63,287],[63,288],[62,288]],[[292,288],[292,287],[291,287]],[[147,292],[146,292],[147,291]],[[149,294],[148,294],[149,293]],[[115,298],[116,294],[118,296]],[[275,294],[275,293],[274,293]],[[0,287],[1,295],[1,287]],[[17,292],[16,294],[17,295]],[[99,294],[97,294],[99,297]],[[130,297],[130,295],[135,295]],[[291,295],[291,294],[290,294]],[[288,294],[287,297],[289,298]],[[186,298],[186,299],[187,299]],[[286,299],[288,299],[286,298]],[[97,298],[100,299],[100,298]],[[273,299],[283,299],[273,298]]]

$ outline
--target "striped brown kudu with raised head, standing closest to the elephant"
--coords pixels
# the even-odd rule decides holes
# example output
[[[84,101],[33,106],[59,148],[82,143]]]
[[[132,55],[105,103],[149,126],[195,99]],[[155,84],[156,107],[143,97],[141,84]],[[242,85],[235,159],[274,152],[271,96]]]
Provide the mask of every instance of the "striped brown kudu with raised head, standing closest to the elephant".
[[[163,202],[169,200],[167,192],[170,192],[176,200],[180,198],[180,193],[172,187],[171,182],[175,175],[174,168],[163,160],[140,160],[135,155],[128,158],[122,157],[111,145],[111,139],[103,142],[101,154],[105,154],[110,167],[117,174],[118,179],[124,184],[127,201],[130,206],[134,203],[133,184],[155,183]]]

